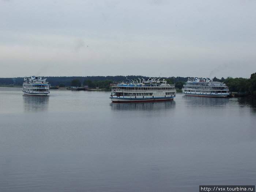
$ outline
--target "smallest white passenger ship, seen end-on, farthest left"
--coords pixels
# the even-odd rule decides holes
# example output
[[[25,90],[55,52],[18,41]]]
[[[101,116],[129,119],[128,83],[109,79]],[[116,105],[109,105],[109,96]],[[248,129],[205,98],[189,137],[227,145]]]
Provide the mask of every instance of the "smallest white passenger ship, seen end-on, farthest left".
[[[36,76],[24,78],[22,91],[25,95],[33,96],[47,96],[50,93],[46,79]]]

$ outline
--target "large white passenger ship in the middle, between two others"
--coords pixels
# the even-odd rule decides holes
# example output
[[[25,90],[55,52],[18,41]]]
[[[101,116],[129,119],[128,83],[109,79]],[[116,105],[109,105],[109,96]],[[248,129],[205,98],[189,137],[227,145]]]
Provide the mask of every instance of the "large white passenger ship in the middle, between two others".
[[[112,102],[142,102],[173,100],[176,96],[174,84],[167,84],[165,79],[130,80],[112,86]]]

